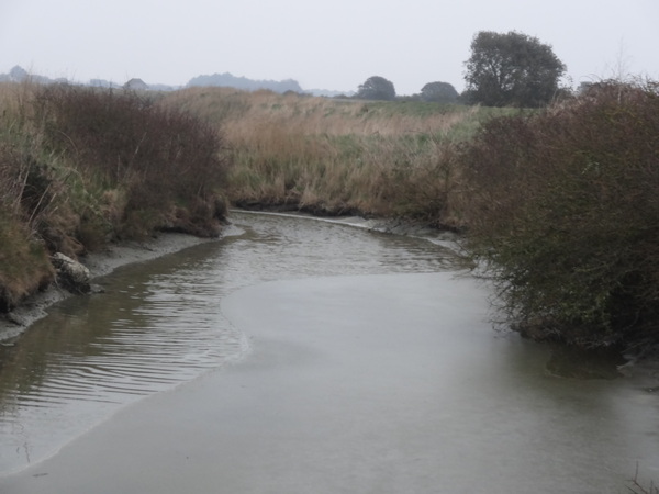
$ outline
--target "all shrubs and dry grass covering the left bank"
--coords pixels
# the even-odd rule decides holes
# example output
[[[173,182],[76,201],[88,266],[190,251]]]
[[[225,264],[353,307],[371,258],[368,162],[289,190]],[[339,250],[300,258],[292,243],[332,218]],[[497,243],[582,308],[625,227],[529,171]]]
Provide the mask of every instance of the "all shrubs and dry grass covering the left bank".
[[[215,127],[135,93],[63,85],[3,85],[0,115],[0,310],[54,280],[56,251],[219,234]]]

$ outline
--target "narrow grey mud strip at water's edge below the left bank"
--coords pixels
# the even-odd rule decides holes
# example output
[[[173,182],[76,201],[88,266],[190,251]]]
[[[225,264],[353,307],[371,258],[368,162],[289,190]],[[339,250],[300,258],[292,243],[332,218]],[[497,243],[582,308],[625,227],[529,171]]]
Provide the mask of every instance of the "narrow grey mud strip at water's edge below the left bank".
[[[230,232],[231,227],[225,231]],[[187,234],[161,233],[145,242],[111,245],[102,251],[87,255],[79,260],[89,269],[93,282],[93,279],[109,274],[122,266],[155,259],[203,242],[213,242],[213,239]],[[0,344],[11,345],[11,339],[23,333],[35,321],[44,317],[51,305],[68,296],[72,296],[72,293],[52,283],[45,291],[27,297],[21,305],[0,317]]]

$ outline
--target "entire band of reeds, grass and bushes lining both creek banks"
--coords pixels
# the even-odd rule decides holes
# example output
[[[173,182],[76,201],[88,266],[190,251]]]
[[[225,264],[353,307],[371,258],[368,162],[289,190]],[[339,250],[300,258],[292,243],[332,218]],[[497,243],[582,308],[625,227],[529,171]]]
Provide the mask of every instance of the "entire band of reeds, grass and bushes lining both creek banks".
[[[159,228],[213,235],[226,198],[460,231],[523,334],[581,347],[659,339],[657,85],[602,82],[541,110],[9,89],[5,310],[53,279],[48,254]]]

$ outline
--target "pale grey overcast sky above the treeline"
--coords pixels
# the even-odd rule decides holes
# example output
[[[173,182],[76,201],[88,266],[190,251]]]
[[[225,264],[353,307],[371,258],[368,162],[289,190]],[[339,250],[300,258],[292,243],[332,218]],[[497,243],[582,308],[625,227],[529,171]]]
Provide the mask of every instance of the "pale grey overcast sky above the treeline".
[[[461,91],[479,31],[551,45],[572,86],[659,79],[659,0],[0,0],[0,74],[178,86],[231,72],[339,91],[381,76],[398,94]]]

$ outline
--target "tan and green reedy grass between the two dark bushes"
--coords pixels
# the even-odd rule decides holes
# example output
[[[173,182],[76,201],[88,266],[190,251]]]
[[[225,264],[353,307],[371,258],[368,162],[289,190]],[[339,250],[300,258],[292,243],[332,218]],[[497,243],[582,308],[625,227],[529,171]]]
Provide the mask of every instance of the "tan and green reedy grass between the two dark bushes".
[[[456,227],[449,143],[513,110],[194,88],[166,97],[223,128],[230,199],[315,214],[407,216]]]

